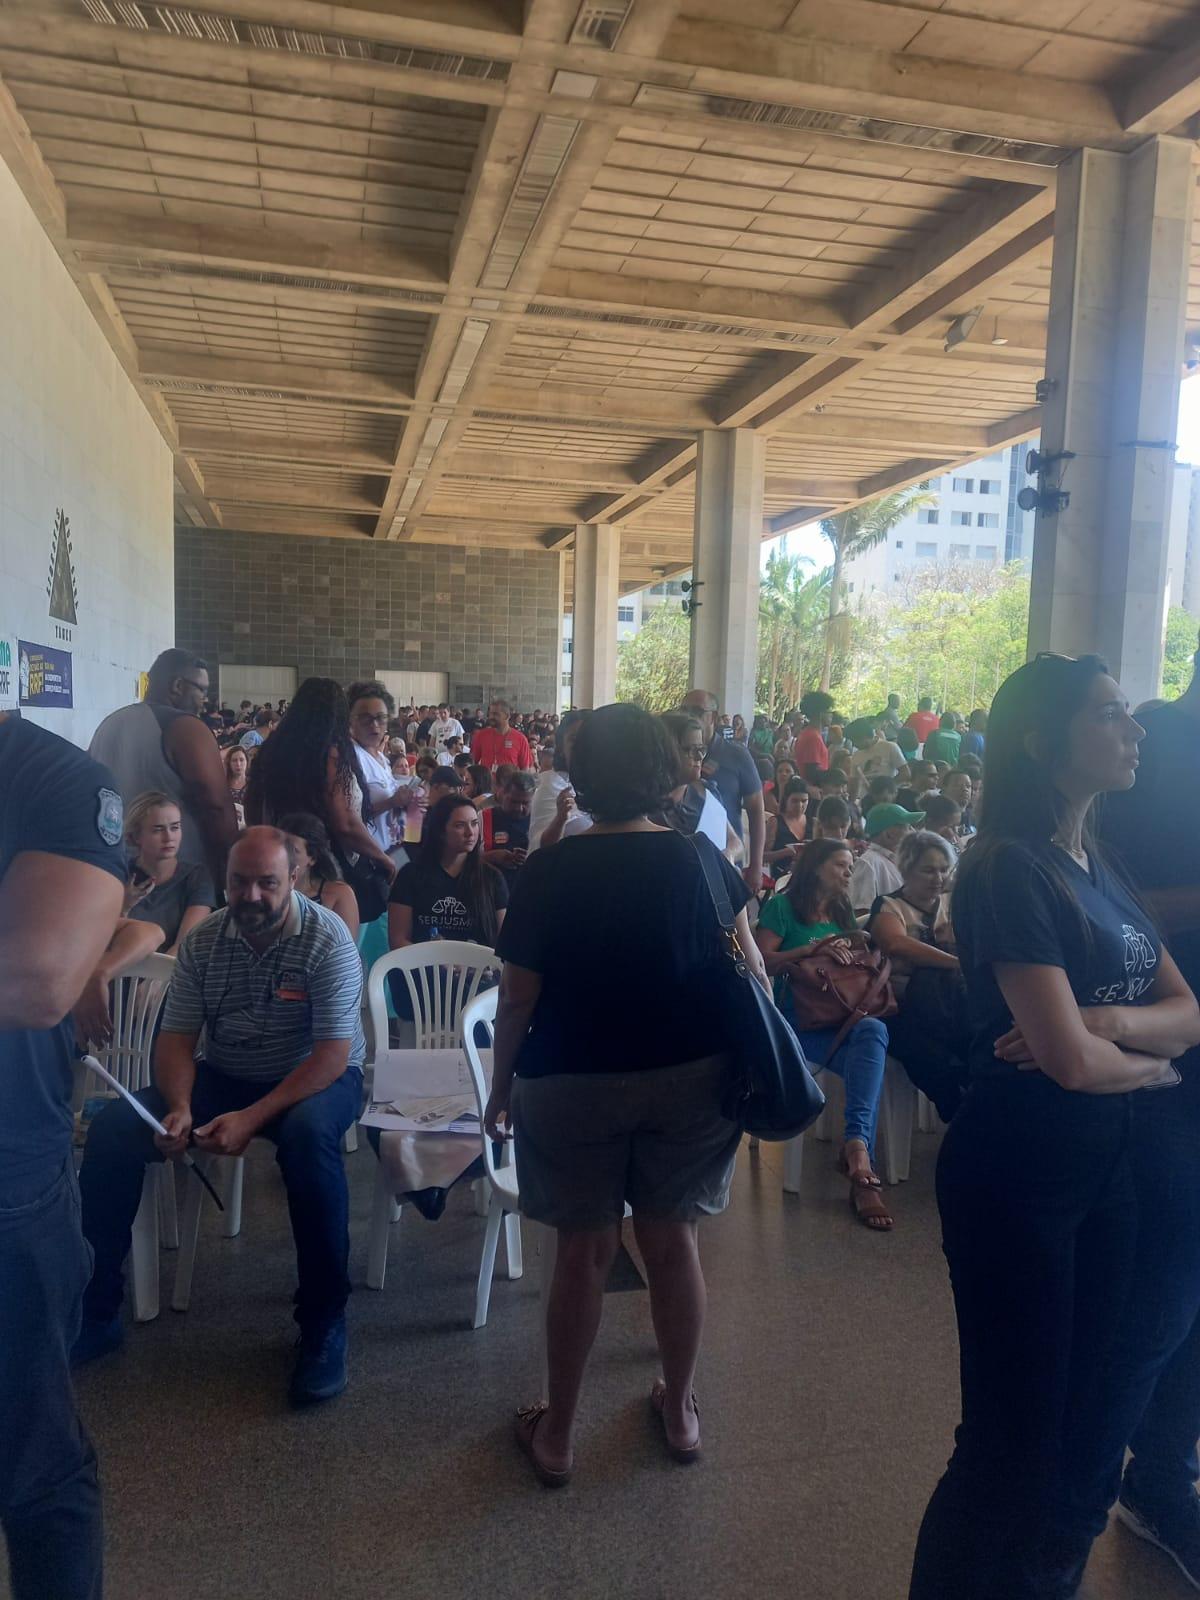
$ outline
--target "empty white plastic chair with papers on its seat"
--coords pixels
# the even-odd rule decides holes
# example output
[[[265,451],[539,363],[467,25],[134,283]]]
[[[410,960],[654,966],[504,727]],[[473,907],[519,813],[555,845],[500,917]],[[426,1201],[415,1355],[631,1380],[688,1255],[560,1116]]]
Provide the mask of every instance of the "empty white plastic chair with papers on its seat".
[[[461,939],[437,939],[408,944],[402,950],[381,955],[366,974],[366,1005],[376,1050],[387,1048],[387,978],[403,973],[413,1002],[416,1050],[459,1050],[462,1046],[462,1013],[478,994],[480,984],[494,973],[499,958],[485,944]],[[387,1184],[382,1160],[374,1174],[371,1226],[366,1245],[366,1286],[381,1290],[387,1277],[387,1230],[400,1221],[402,1206]]]

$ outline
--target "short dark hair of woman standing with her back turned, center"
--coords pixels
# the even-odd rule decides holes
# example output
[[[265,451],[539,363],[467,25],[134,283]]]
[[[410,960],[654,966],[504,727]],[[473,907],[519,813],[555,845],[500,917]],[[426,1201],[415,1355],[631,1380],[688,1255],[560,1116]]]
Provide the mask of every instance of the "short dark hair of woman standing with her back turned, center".
[[[600,706],[579,728],[570,776],[597,822],[632,822],[661,811],[678,786],[678,749],[640,706]]]

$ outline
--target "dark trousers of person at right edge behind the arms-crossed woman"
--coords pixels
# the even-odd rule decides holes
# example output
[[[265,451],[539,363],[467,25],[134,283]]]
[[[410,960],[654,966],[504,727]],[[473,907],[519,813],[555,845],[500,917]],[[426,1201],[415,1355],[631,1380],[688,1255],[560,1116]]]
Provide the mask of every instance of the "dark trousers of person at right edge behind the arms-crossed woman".
[[[1125,1472],[1139,1507],[1186,1507],[1200,1475],[1200,1050],[1184,1083],[1133,1099],[1138,1262],[1101,1387],[1101,1403],[1072,1440],[1072,1493],[1094,1538]]]

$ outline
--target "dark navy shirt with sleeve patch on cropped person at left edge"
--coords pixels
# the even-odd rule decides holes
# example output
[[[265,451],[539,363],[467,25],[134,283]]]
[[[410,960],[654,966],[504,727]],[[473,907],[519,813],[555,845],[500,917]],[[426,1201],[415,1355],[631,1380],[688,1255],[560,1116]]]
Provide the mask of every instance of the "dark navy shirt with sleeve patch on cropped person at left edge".
[[[0,722],[0,882],[27,851],[125,882],[123,806],[112,773],[45,728]],[[64,907],[66,910],[66,907]],[[70,1016],[0,1029],[0,1189],[46,1184],[70,1155]]]

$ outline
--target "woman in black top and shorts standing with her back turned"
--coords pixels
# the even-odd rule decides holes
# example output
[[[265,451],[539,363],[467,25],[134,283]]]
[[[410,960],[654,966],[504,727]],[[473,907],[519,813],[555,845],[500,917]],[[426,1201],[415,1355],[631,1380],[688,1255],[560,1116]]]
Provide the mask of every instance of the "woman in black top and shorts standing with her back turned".
[[[714,971],[726,962],[699,854],[722,874],[752,970],[747,890],[706,838],[658,827],[678,782],[675,747],[637,706],[579,726],[571,784],[586,834],[530,856],[512,893],[491,1099],[512,1123],[522,1211],[558,1234],[547,1307],[549,1405],[523,1408],[517,1438],[542,1483],[566,1483],[605,1280],[634,1213],[662,1358],[651,1405],[674,1459],[699,1456],[693,1381],[704,1325],[696,1246],[722,1211],[739,1130],[722,1115],[726,1022]],[[621,1003],[614,1003],[614,997]]]

